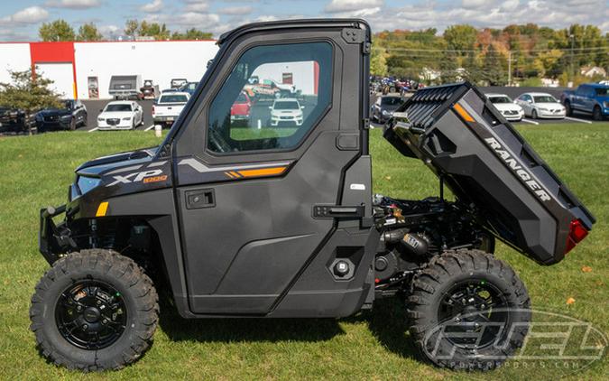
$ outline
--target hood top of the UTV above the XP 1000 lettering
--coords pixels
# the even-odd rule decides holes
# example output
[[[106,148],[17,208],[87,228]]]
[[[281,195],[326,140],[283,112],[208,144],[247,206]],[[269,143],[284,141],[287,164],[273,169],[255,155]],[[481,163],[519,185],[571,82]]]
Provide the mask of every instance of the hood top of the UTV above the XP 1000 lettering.
[[[81,164],[76,173],[81,176],[101,177],[102,174],[127,166],[134,166],[152,161],[159,147],[144,148],[126,153],[115,153],[108,156],[98,157],[87,163]]]

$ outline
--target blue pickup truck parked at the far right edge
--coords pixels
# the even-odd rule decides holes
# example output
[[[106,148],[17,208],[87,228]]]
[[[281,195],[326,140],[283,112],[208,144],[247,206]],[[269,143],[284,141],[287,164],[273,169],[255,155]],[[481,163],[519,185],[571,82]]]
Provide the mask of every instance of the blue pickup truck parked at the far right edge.
[[[575,91],[565,91],[561,97],[567,116],[574,112],[592,115],[595,120],[609,116],[609,85],[586,83]]]

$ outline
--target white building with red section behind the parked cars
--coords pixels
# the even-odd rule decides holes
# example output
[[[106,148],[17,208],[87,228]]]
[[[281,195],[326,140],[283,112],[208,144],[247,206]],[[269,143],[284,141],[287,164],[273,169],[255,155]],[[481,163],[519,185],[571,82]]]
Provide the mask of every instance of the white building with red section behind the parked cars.
[[[0,82],[10,81],[9,70],[35,67],[65,98],[88,99],[89,84],[95,83],[98,98],[110,98],[115,75],[141,75],[161,89],[173,78],[198,81],[217,49],[215,41],[5,42],[0,43]]]

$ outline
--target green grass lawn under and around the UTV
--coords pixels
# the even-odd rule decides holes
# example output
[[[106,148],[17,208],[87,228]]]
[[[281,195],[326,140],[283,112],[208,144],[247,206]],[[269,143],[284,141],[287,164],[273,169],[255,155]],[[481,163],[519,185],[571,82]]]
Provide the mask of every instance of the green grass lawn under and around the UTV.
[[[558,265],[541,267],[506,246],[497,256],[520,274],[533,307],[589,321],[609,333],[609,123],[521,125],[532,146],[598,219]],[[37,252],[38,210],[66,201],[73,170],[108,153],[158,144],[153,132],[0,137],[0,379],[606,379],[605,358],[580,373],[508,362],[492,374],[453,373],[415,354],[401,302],[333,320],[183,321],[161,311],[152,349],[120,372],[81,375],[47,364],[28,330],[34,284],[48,265]],[[438,193],[422,163],[403,158],[372,131],[374,191],[400,198]],[[582,270],[585,266],[586,271]],[[588,271],[590,270],[590,271]],[[567,304],[567,299],[575,302]],[[605,376],[603,376],[605,375]]]

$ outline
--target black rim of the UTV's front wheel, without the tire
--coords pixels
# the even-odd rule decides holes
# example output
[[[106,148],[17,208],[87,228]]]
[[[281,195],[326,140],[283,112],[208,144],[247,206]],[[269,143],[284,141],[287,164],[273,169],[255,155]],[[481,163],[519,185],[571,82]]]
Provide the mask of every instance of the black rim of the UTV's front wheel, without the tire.
[[[81,280],[60,294],[55,321],[70,344],[83,349],[106,348],[125,331],[125,300],[108,283]]]

